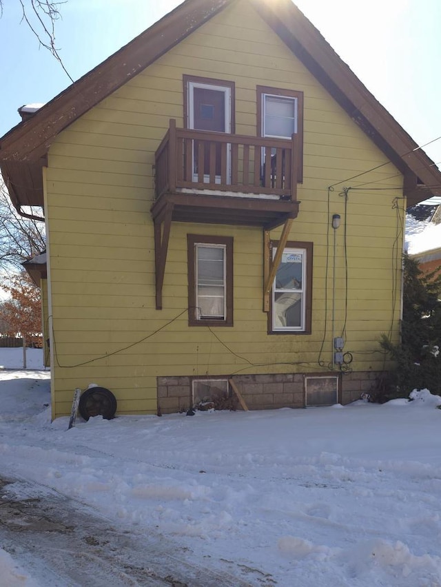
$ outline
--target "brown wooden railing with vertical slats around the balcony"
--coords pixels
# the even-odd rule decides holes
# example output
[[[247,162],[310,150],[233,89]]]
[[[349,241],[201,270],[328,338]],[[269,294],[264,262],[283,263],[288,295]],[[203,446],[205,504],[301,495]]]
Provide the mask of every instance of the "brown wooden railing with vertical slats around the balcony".
[[[296,200],[297,141],[297,134],[281,140],[176,128],[171,120],[155,154],[156,198],[212,190]]]

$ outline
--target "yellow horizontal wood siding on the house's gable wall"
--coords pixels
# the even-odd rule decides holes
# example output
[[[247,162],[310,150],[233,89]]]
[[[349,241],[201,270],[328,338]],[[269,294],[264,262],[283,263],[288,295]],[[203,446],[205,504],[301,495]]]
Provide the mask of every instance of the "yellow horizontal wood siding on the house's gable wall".
[[[256,85],[304,92],[304,179],[289,238],[314,242],[310,335],[267,334],[258,228],[173,223],[163,310],[155,309],[152,166],[169,119],[183,126],[183,74],[234,81],[238,134],[256,135]],[[113,391],[119,413],[156,413],[157,376],[326,370],[332,214],[342,216],[336,232],[335,333],[340,335],[346,313],[351,369],[383,369],[378,340],[382,332],[398,336],[400,316],[402,177],[389,164],[345,180],[386,162],[246,1],[220,12],[127,81],[50,147],[45,187],[54,417],[69,413],[74,389],[90,383]],[[343,188],[358,185],[349,190],[345,207]],[[231,328],[187,325],[187,234],[234,237]],[[273,231],[271,238],[279,235]]]

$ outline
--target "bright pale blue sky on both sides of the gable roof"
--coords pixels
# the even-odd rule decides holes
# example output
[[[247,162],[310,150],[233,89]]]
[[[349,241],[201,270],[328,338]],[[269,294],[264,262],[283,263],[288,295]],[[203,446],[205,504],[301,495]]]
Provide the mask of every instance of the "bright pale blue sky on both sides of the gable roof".
[[[67,0],[60,5],[62,19],[56,23],[56,44],[65,68],[78,79],[178,3]],[[296,4],[418,144],[441,135],[440,0],[297,0]],[[4,1],[0,136],[19,123],[19,106],[47,102],[70,84],[59,63],[39,48],[20,21],[19,1]],[[435,163],[441,162],[441,140],[424,150]]]

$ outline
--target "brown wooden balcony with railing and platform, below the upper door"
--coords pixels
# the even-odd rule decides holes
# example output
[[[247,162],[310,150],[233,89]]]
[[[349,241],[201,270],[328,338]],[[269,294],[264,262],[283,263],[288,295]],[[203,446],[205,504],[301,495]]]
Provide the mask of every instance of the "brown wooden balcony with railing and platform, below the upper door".
[[[254,225],[296,218],[298,135],[290,141],[176,128],[155,154],[155,224]]]

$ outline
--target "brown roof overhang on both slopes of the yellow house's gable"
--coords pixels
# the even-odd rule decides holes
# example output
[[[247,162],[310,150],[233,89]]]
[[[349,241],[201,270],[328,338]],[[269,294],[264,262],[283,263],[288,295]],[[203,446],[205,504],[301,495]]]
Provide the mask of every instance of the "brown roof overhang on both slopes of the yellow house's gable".
[[[0,139],[12,203],[43,205],[41,167],[54,138],[128,79],[237,0],[186,0]],[[441,173],[291,0],[249,0],[294,55],[404,174],[409,204],[441,194]]]

